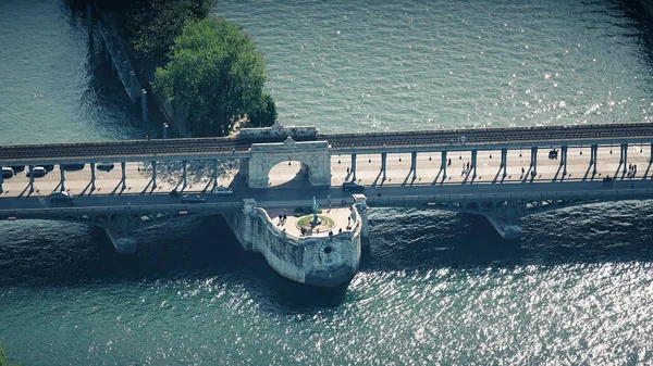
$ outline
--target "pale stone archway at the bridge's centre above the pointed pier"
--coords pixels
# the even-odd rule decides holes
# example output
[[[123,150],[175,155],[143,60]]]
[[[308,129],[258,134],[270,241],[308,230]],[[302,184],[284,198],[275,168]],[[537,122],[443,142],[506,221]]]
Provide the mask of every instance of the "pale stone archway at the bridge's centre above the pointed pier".
[[[331,185],[331,159],[326,141],[295,142],[287,138],[281,143],[255,143],[247,163],[247,184],[250,188],[268,188],[270,171],[280,163],[299,162],[313,186]]]

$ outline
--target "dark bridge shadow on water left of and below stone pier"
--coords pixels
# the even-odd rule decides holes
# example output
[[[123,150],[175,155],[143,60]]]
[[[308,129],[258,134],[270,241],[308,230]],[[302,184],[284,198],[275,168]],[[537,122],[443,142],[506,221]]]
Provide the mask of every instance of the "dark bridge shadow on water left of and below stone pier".
[[[334,307],[346,287],[325,290],[281,277],[260,254],[245,252],[221,217],[171,222],[143,229],[134,255],[115,252],[103,229],[30,222],[3,226],[0,287],[79,287],[206,282],[243,287],[262,310],[291,313]],[[23,232],[30,230],[28,235]]]

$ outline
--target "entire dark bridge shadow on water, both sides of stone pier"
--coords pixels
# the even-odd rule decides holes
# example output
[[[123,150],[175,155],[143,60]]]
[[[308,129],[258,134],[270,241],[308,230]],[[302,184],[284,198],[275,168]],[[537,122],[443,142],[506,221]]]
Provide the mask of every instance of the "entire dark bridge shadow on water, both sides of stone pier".
[[[375,210],[361,272],[653,261],[648,228],[653,204],[590,205],[523,219],[520,241],[506,241],[480,216]],[[642,214],[645,213],[645,214]],[[23,225],[23,226],[21,226]],[[115,252],[102,229],[30,222],[3,224],[0,287],[132,286],[160,282],[243,287],[262,311],[312,312],[340,306],[347,288],[325,290],[278,275],[260,254],[243,251],[220,217],[170,222],[137,232],[135,255]]]

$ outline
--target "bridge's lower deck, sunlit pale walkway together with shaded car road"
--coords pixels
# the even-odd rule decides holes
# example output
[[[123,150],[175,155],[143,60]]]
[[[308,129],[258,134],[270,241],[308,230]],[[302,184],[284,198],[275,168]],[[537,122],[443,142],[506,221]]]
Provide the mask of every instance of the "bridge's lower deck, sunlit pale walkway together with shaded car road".
[[[470,160],[469,152],[461,154],[452,154],[452,164],[448,167],[447,178],[443,178],[440,169],[440,154],[418,154],[417,178],[412,180],[410,173],[410,155],[389,154],[387,156],[387,179],[383,182],[380,177],[380,156],[379,155],[358,155],[357,157],[357,179],[367,186],[365,193],[368,197],[396,197],[396,195],[429,195],[429,194],[491,194],[491,193],[523,193],[523,192],[555,192],[560,190],[588,190],[599,189],[602,186],[602,178],[606,175],[615,176],[619,167],[619,153],[613,149],[611,154],[609,147],[599,149],[597,174],[592,178],[592,172],[589,168],[589,148],[569,149],[568,152],[568,175],[563,179],[562,169],[559,169],[558,160],[546,157],[547,151],[540,151],[544,155],[539,160],[538,175],[530,178],[521,174],[521,167],[528,171],[530,162],[530,150],[513,150],[508,152],[507,176],[500,172],[500,151],[489,151],[479,153],[478,177],[472,179],[471,174],[461,174],[463,165],[467,165]],[[648,151],[640,152],[639,147],[632,146],[629,149],[630,164],[638,166],[638,173],[634,178],[617,175],[616,187],[637,189],[651,188],[652,172],[649,172]],[[519,156],[521,154],[521,156]],[[490,157],[492,155],[492,157]],[[399,161],[401,159],[401,161]],[[370,162],[371,160],[371,162]],[[340,163],[338,163],[340,161]],[[207,203],[238,203],[243,199],[255,199],[267,207],[295,207],[298,205],[312,203],[312,195],[316,195],[322,204],[326,203],[330,195],[333,204],[337,204],[343,199],[350,200],[350,192],[344,192],[340,188],[342,181],[347,179],[347,167],[350,166],[348,155],[333,156],[332,159],[332,188],[326,187],[306,187],[305,177],[298,174],[299,164],[297,162],[279,164],[270,173],[270,189],[249,189],[239,179],[234,180],[237,173],[236,162],[222,162],[219,184],[231,186],[234,193],[231,195],[212,195],[204,191],[210,190],[211,167],[206,162],[192,162],[188,164],[188,186],[185,192],[200,193],[207,199]],[[84,199],[75,200],[75,207],[93,206],[116,206],[116,205],[157,205],[157,204],[180,204],[181,199],[170,197],[174,187],[181,188],[181,163],[169,163],[159,165],[159,188],[151,188],[151,169],[148,164],[126,164],[126,184],[125,190],[121,189],[120,165],[109,173],[97,172],[95,191],[90,191],[88,166],[81,172],[66,172],[65,188],[74,195],[83,194]],[[619,168],[621,172],[621,168]],[[46,209],[59,207],[61,203],[49,201],[48,195],[58,189],[59,171],[54,169],[45,178],[36,179],[35,191],[29,193],[27,190],[28,178],[24,174],[19,174],[14,178],[4,181],[4,192],[0,194],[0,211],[20,210],[20,209]],[[349,175],[350,178],[350,175]],[[554,179],[555,178],[555,179]],[[546,184],[556,181],[556,184]],[[301,187],[301,189],[298,189]],[[204,193],[202,193],[204,192]],[[22,197],[24,199],[12,200],[11,198]],[[30,198],[30,199],[27,199]]]

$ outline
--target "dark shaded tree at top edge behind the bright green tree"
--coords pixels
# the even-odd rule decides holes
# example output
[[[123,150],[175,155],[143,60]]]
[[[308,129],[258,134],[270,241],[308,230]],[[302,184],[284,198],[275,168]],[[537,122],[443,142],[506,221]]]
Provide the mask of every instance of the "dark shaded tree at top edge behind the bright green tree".
[[[205,18],[215,0],[112,0],[127,1],[126,36],[139,59],[164,63],[184,25]],[[113,5],[115,7],[115,5]]]

